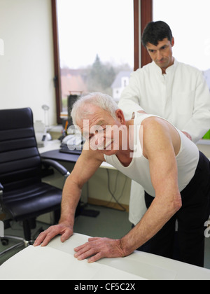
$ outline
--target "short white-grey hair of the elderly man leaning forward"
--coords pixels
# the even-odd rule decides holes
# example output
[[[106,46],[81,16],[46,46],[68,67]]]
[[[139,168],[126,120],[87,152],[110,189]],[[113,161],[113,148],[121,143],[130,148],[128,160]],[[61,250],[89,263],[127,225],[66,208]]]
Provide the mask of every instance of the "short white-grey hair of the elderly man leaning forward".
[[[107,95],[99,92],[94,92],[80,97],[74,104],[71,111],[71,118],[73,120],[73,125],[77,125],[80,120],[85,119],[89,114],[93,114],[88,109],[87,105],[99,106],[105,111],[109,111],[113,118],[116,118],[116,110],[118,109],[118,104],[114,99]]]

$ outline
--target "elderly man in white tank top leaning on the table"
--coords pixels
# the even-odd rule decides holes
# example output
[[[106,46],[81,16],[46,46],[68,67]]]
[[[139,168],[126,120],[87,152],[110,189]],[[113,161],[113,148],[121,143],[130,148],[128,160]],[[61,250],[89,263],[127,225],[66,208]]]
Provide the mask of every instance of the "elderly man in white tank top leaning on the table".
[[[91,256],[89,262],[123,257],[149,239],[153,253],[171,257],[177,219],[181,260],[203,266],[204,223],[209,217],[209,160],[167,120],[141,113],[125,120],[123,111],[105,94],[80,98],[71,115],[87,141],[66,180],[59,224],[42,232],[34,245],[45,246],[58,234],[65,241],[73,234],[81,188],[106,161],[144,186],[150,207],[127,235],[121,239],[90,238],[75,248],[75,257],[83,260]]]

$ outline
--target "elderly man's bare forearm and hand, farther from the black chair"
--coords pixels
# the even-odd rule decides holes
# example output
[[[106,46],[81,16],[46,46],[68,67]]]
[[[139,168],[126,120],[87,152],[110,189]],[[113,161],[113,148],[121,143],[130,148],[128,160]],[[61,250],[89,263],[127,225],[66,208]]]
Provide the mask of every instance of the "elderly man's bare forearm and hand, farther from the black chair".
[[[179,198],[179,197],[178,197]],[[179,210],[178,202],[155,200],[151,204],[141,222],[122,239],[90,238],[85,244],[74,248],[78,260],[89,258],[95,262],[100,258],[119,258],[130,255],[135,249],[151,239],[167,221]],[[162,209],[163,208],[163,209]]]

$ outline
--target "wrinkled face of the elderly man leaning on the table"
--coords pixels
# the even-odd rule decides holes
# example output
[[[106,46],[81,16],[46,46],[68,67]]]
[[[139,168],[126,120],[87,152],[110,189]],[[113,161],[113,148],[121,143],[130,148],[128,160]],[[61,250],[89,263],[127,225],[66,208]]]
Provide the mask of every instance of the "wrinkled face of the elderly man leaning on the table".
[[[106,155],[116,154],[121,148],[120,130],[127,128],[121,125],[120,120],[114,119],[107,111],[98,106],[88,106],[92,114],[78,123],[83,137],[89,141],[92,150],[98,150]]]

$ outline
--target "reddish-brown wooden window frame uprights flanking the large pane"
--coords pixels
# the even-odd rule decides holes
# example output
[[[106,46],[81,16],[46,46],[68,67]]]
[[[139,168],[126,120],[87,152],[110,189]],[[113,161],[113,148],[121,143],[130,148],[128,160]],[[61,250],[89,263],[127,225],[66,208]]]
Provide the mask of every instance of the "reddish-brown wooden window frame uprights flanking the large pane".
[[[144,27],[148,22],[153,19],[153,0],[133,0],[134,1],[134,71],[139,69],[141,59],[141,66],[144,66],[151,62],[151,58],[148,52],[141,44],[141,58],[140,52],[140,42],[141,34]],[[62,93],[61,93],[61,79],[60,79],[60,64],[59,64],[59,39],[58,39],[58,22],[57,22],[57,0],[51,0],[52,6],[52,36],[53,36],[53,55],[54,55],[54,86],[55,86],[55,98],[56,98],[56,114],[57,114],[57,124],[62,123],[60,118],[60,113],[62,112]],[[141,13],[140,13],[141,11]],[[139,15],[141,15],[141,20],[139,20]],[[139,22],[141,22],[139,24]],[[141,26],[140,26],[141,25]],[[141,27],[141,29],[140,29]]]

